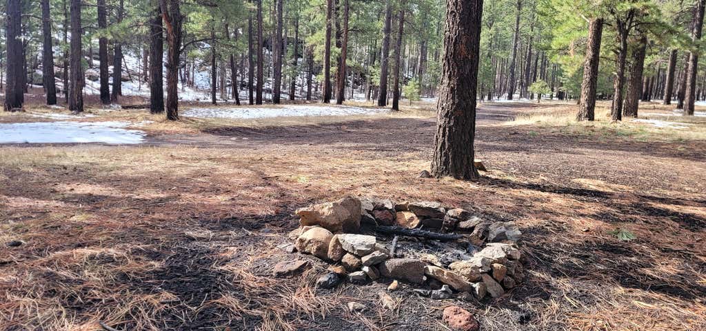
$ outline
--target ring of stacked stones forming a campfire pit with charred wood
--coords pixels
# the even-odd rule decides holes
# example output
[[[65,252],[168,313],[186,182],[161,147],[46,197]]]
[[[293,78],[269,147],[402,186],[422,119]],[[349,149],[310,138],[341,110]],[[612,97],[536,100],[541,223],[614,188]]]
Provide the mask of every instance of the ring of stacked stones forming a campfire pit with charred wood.
[[[301,226],[289,234],[296,251],[331,264],[318,279],[320,288],[399,281],[433,299],[454,293],[483,299],[502,296],[524,277],[517,247],[522,233],[514,222],[485,222],[434,202],[355,197],[304,207],[297,215]]]

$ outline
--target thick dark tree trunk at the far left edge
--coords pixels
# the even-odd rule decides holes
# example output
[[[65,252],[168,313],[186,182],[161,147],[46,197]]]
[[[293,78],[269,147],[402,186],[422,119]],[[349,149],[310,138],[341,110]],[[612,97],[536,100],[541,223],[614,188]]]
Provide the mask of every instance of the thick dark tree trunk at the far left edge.
[[[5,88],[5,112],[14,112],[22,109],[25,102],[25,73],[23,73],[23,44],[20,39],[22,33],[22,0],[7,0],[6,3],[6,47],[7,70]]]

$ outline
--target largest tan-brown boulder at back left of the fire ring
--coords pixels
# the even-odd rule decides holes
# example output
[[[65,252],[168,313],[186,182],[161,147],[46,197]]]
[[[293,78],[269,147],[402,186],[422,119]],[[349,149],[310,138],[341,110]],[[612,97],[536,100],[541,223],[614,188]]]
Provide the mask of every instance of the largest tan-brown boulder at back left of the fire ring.
[[[355,233],[360,229],[361,203],[353,197],[297,210],[301,225],[319,225],[331,232]]]

